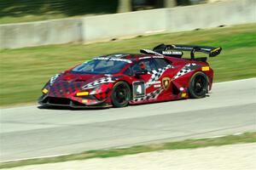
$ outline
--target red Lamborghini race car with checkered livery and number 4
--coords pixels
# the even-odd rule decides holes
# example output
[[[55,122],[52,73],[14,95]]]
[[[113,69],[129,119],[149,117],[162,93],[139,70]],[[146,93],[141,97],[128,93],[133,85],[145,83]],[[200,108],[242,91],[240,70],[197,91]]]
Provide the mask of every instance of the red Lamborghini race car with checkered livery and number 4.
[[[141,54],[108,54],[56,74],[42,88],[39,105],[125,107],[174,99],[204,98],[212,88],[207,57],[222,48],[160,44]],[[190,51],[183,58],[183,51]]]

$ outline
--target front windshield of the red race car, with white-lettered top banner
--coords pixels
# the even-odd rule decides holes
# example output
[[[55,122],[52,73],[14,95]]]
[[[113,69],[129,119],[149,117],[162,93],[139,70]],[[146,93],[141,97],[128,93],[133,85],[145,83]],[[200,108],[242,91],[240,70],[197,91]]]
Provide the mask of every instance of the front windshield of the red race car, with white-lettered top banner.
[[[101,57],[78,65],[71,71],[82,74],[114,74],[118,73],[125,65],[129,64],[129,59],[114,59]]]

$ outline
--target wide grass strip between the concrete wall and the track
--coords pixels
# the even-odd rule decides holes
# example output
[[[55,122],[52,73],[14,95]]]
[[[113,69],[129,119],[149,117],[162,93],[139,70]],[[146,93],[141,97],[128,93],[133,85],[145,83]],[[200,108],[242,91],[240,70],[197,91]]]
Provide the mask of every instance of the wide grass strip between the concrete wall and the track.
[[[232,26],[200,31],[165,33],[114,42],[87,45],[65,44],[0,51],[0,105],[36,102],[49,77],[94,56],[138,53],[160,43],[221,46],[223,51],[208,59],[214,82],[256,77],[256,25]]]

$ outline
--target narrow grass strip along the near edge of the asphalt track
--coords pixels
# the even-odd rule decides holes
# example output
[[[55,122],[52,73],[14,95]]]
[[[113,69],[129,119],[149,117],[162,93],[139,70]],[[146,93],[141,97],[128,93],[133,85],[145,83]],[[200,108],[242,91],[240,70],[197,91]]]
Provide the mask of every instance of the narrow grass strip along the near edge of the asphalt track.
[[[243,133],[240,135],[230,135],[215,139],[188,139],[178,142],[169,142],[164,144],[148,144],[137,145],[129,148],[109,149],[109,150],[90,150],[80,154],[68,156],[55,156],[49,158],[37,158],[24,161],[9,161],[0,163],[0,168],[20,167],[34,164],[55,163],[61,161],[84,160],[90,158],[107,158],[114,156],[125,156],[143,152],[151,152],[158,150],[180,150],[180,149],[195,149],[207,146],[219,146],[224,144],[242,144],[256,142],[256,133]]]

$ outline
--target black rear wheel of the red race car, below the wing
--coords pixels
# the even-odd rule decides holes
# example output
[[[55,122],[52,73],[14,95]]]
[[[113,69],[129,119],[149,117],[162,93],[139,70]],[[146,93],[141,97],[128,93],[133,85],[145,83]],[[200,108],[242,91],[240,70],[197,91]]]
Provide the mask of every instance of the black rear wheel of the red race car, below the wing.
[[[205,73],[199,71],[189,80],[189,97],[200,99],[206,97],[208,93],[208,77]]]

